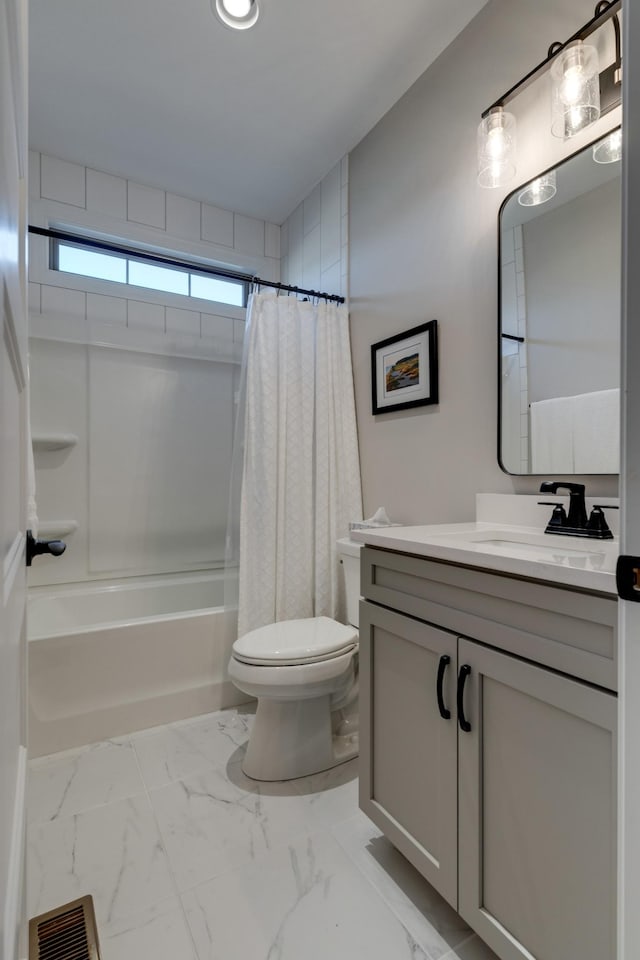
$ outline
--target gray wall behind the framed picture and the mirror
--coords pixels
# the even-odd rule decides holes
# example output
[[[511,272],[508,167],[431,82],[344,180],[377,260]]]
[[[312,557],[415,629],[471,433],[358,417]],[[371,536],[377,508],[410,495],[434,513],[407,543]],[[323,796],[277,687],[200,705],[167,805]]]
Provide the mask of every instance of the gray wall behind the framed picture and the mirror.
[[[350,308],[365,513],[471,519],[478,491],[533,492],[497,463],[497,215],[507,193],[619,122],[568,144],[549,132],[548,77],[513,102],[518,174],[476,185],[482,111],[554,40],[593,15],[591,0],[492,0],[350,155]],[[440,403],[371,414],[370,345],[437,318]],[[615,495],[614,478],[587,478]]]

